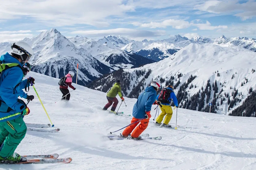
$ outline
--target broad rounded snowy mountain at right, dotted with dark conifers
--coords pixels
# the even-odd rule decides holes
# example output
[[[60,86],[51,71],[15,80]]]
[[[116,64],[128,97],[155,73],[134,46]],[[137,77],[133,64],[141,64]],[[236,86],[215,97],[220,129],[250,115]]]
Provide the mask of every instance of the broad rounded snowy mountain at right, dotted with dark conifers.
[[[140,68],[124,69],[92,82],[89,87],[108,91],[113,79],[121,79],[125,96],[132,98],[152,79],[159,79],[163,86],[174,85],[180,107],[209,112],[208,104],[212,102],[211,112],[228,114],[244,101],[250,88],[256,87],[255,69],[253,51],[191,43],[171,57]]]

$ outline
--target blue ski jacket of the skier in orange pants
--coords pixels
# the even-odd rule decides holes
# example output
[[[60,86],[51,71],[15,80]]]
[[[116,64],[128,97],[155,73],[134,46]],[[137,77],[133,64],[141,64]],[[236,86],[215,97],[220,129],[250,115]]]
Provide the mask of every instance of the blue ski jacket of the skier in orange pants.
[[[154,87],[149,86],[145,89],[145,91],[140,94],[137,102],[134,104],[134,108],[132,111],[132,116],[136,119],[145,118],[145,112],[151,111],[151,107],[157,97],[157,92]]]

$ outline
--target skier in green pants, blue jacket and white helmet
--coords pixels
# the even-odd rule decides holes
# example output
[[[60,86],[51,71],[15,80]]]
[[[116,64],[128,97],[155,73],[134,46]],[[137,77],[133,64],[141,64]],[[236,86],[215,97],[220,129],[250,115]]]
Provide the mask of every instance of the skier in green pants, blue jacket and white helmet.
[[[0,161],[18,162],[26,161],[26,158],[15,153],[15,150],[26,135],[26,124],[22,115],[30,113],[26,104],[18,99],[20,88],[25,88],[19,84],[23,79],[21,67],[32,56],[33,50],[22,41],[13,43],[11,49],[11,54],[6,53],[0,57],[1,68],[3,65],[9,65],[3,69],[0,76],[0,119],[10,116],[0,120]],[[35,79],[29,77],[26,81],[34,84]]]

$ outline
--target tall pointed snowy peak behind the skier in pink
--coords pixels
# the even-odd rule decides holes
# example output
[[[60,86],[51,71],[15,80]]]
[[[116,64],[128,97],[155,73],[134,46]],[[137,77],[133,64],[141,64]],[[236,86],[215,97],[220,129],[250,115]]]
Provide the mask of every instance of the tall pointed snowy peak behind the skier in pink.
[[[79,64],[78,83],[82,85],[113,71],[84,48],[77,48],[56,29],[41,32],[37,37],[24,41],[32,46],[35,54],[29,61],[33,65],[32,71],[60,78],[70,70],[76,72]]]

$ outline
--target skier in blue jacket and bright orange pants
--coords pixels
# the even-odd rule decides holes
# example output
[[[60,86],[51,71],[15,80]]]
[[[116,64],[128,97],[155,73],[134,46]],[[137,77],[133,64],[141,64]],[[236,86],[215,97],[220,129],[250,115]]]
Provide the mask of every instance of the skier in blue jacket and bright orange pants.
[[[143,131],[148,127],[148,122],[151,118],[151,107],[155,102],[155,99],[157,97],[157,91],[159,90],[160,86],[160,82],[158,80],[154,80],[153,82],[151,82],[151,86],[147,87],[145,91],[140,94],[137,102],[134,104],[134,108],[132,111],[133,118],[131,119],[131,124],[139,120],[140,121],[126,127],[122,134],[119,135],[119,137],[137,140],[142,139],[140,134],[143,133]],[[139,123],[140,125],[137,126]],[[129,136],[130,134],[131,136]]]

